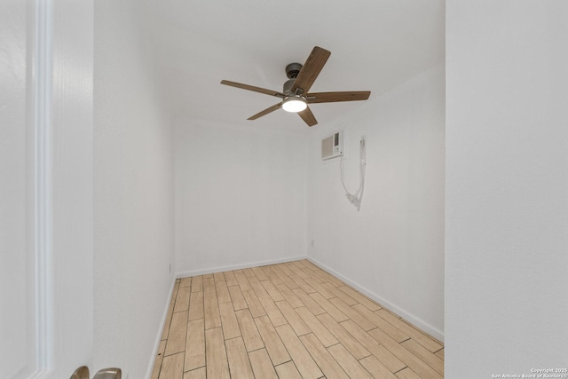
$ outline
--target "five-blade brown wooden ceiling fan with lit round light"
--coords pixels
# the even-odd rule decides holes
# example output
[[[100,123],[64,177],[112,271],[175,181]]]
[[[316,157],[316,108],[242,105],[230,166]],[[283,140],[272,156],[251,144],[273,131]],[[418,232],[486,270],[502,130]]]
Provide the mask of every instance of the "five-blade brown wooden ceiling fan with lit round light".
[[[371,94],[371,91],[308,92],[330,55],[331,52],[315,46],[308,59],[306,59],[304,66],[299,63],[290,63],[286,67],[288,81],[284,83],[284,88],[281,92],[266,90],[248,84],[230,82],[228,80],[221,81],[221,84],[241,88],[242,90],[260,92],[282,99],[280,103],[248,117],[248,120],[256,120],[281,107],[285,111],[299,114],[308,126],[313,126],[318,122],[312,114],[312,110],[308,107],[308,104],[367,100]]]

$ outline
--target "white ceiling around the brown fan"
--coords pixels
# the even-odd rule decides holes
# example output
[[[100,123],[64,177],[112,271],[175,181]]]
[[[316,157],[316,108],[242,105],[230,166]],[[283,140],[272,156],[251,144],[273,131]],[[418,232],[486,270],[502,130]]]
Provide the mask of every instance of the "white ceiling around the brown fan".
[[[444,0],[146,0],[146,27],[173,114],[305,132],[279,102],[222,79],[282,91],[288,63],[318,45],[331,57],[311,91],[371,91],[371,98],[442,62]],[[315,104],[319,125],[365,101]]]

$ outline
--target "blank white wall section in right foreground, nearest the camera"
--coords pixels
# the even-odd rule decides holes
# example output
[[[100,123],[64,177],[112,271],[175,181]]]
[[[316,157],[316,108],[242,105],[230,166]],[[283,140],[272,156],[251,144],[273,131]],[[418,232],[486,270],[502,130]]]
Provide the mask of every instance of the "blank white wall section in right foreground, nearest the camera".
[[[446,10],[446,376],[568,367],[568,3]]]

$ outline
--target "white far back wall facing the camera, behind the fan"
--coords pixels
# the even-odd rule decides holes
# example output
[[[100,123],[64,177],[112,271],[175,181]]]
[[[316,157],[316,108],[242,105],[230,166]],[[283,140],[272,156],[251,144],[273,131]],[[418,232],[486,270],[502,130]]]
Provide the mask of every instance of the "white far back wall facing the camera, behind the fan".
[[[305,257],[304,135],[178,120],[180,275]]]

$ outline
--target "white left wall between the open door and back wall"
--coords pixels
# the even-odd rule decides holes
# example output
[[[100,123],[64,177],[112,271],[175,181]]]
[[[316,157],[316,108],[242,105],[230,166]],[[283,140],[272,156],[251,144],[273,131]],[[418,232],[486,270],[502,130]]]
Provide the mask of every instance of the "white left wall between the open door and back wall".
[[[95,2],[94,59],[93,367],[130,379],[153,364],[175,270],[171,124],[135,5]]]

